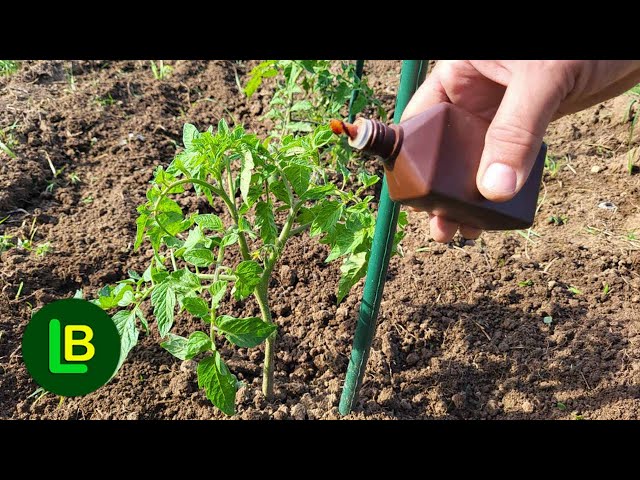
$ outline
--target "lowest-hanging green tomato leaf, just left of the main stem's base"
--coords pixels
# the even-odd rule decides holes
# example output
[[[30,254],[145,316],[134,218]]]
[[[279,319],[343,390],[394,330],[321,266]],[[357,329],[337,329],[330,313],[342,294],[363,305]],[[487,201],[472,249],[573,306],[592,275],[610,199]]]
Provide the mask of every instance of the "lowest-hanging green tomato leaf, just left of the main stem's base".
[[[198,363],[198,387],[204,388],[207,398],[226,415],[236,413],[237,379],[220,357],[220,353]]]

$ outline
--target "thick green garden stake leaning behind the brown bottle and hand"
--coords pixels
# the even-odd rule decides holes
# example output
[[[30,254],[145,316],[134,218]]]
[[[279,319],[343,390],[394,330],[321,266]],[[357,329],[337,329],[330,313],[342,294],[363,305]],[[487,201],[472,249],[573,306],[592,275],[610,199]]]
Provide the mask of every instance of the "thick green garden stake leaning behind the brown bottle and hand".
[[[409,100],[424,80],[428,68],[427,60],[403,60],[400,73],[400,86],[396,97],[396,108],[393,121],[400,123],[400,118]],[[353,97],[352,97],[353,98]],[[351,118],[349,118],[352,121]],[[371,342],[376,333],[376,320],[380,309],[380,301],[384,291],[384,283],[389,268],[389,259],[393,247],[393,237],[398,224],[400,205],[389,198],[386,178],[382,179],[380,205],[376,228],[371,246],[371,257],[367,267],[364,293],[358,315],[358,323],[353,338],[351,358],[347,368],[342,397],[340,398],[340,413],[347,415],[351,412],[358,399],[358,391],[362,385]]]

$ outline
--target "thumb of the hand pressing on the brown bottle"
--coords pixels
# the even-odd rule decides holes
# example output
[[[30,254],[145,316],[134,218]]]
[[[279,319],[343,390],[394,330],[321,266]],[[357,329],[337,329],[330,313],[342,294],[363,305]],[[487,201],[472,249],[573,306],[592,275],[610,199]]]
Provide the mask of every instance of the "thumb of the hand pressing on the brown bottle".
[[[561,89],[548,76],[517,72],[485,137],[476,183],[489,200],[510,200],[529,177]]]

